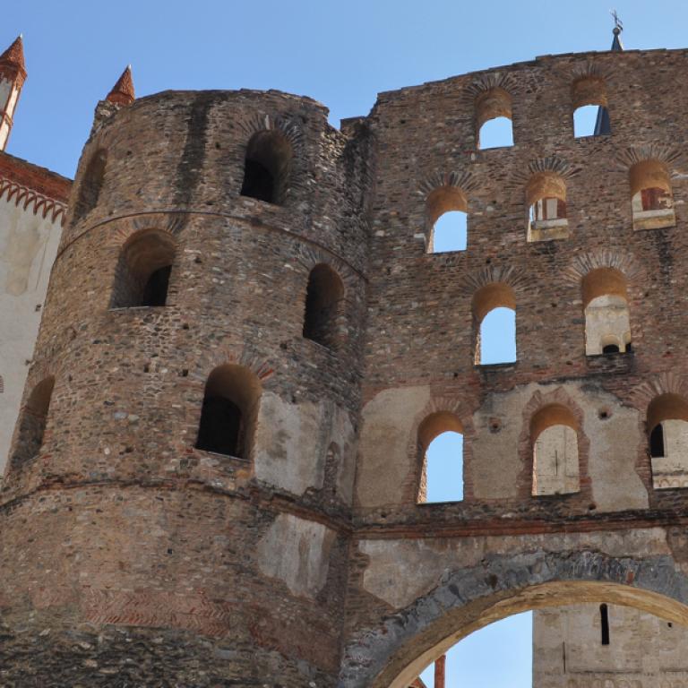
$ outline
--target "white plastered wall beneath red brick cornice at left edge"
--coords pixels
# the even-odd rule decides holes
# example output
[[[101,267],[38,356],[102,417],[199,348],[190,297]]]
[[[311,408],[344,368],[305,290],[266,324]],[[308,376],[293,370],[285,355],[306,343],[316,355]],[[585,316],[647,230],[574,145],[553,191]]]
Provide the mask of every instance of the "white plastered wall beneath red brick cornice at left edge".
[[[47,280],[57,253],[61,227],[43,219],[32,205],[24,210],[0,198],[0,470],[4,471],[14,423],[39,332]]]

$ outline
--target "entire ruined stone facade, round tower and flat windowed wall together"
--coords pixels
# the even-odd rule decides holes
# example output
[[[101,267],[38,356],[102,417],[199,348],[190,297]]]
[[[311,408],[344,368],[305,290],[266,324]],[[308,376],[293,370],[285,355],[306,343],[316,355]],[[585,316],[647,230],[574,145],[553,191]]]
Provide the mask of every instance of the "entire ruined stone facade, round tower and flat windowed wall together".
[[[0,683],[386,688],[528,608],[688,624],[686,59],[541,57],[340,131],[275,91],[101,103],[5,470]],[[498,306],[518,361],[476,365]],[[464,499],[419,503],[448,429]]]

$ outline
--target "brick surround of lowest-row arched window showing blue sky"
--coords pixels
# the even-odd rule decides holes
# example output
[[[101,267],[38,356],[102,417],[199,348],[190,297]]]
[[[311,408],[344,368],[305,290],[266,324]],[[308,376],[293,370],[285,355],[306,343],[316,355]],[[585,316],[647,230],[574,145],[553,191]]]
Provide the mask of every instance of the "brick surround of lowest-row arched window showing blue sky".
[[[402,502],[416,503],[418,489],[423,474],[423,460],[424,448],[419,439],[420,427],[426,422],[428,417],[435,413],[447,412],[457,417],[463,430],[463,461],[464,461],[464,484],[463,484],[463,498],[464,501],[472,496],[472,488],[467,490],[467,483],[465,476],[466,464],[469,462],[472,454],[470,452],[470,440],[476,436],[475,427],[473,426],[473,412],[463,400],[457,397],[449,396],[431,396],[426,406],[414,418],[413,426],[409,430],[409,443],[407,444],[407,455],[410,458],[409,466],[411,466],[411,473],[406,478],[402,486]],[[469,442],[466,442],[466,440]]]

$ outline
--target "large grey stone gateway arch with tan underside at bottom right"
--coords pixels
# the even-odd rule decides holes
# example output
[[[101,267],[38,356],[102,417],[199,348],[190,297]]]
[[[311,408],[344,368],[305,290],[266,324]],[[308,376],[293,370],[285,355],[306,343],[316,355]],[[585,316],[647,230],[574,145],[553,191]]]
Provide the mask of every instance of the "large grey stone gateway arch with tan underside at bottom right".
[[[688,624],[688,578],[669,555],[612,556],[598,550],[487,555],[443,572],[412,604],[355,633],[344,649],[340,685],[402,688],[454,643],[527,609],[586,602],[632,606]]]

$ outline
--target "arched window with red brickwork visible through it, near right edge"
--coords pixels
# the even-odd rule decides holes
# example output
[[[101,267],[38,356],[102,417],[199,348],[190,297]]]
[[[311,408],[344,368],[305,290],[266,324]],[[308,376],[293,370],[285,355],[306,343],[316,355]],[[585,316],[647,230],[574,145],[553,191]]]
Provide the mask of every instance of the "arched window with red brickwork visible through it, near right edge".
[[[667,165],[661,160],[637,162],[629,171],[633,229],[674,227],[674,197]]]

